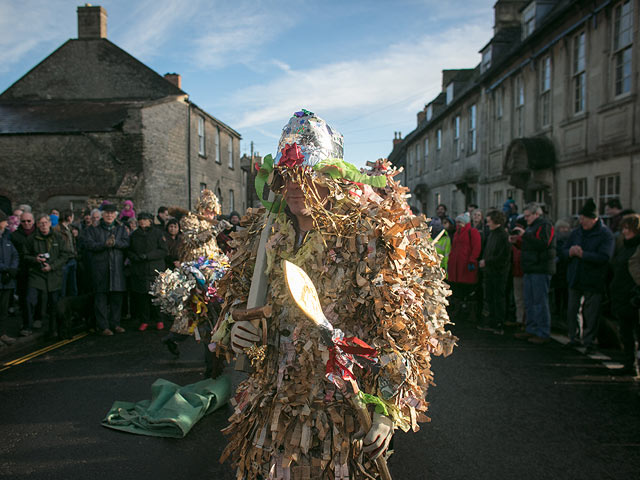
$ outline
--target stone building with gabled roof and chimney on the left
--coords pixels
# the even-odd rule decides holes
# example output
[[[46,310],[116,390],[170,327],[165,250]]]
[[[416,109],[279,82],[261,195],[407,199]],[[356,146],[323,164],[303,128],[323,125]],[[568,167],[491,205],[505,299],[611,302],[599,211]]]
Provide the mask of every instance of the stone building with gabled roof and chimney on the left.
[[[102,7],[78,7],[71,39],[0,94],[0,199],[78,210],[132,199],[190,208],[205,187],[246,207],[240,134],[111,43]]]

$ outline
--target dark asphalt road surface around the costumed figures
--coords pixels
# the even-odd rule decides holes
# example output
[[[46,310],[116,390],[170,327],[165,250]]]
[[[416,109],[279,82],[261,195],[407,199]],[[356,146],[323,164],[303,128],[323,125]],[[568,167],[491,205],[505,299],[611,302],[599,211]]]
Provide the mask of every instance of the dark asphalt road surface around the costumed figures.
[[[434,361],[431,423],[396,436],[394,479],[638,478],[638,383],[555,342],[456,334],[454,354]],[[87,336],[0,372],[0,478],[235,478],[218,462],[228,406],[179,440],[100,425],[115,400],[149,398],[157,378],[202,379],[202,346],[189,340],[174,360],[161,336]]]

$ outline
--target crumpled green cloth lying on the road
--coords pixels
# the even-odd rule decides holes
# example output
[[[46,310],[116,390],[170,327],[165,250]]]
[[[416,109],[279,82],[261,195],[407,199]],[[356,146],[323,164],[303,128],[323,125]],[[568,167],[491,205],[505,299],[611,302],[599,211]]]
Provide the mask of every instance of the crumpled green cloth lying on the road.
[[[102,425],[154,437],[183,438],[205,415],[227,403],[231,380],[227,376],[181,387],[159,378],[151,386],[151,400],[114,402]]]

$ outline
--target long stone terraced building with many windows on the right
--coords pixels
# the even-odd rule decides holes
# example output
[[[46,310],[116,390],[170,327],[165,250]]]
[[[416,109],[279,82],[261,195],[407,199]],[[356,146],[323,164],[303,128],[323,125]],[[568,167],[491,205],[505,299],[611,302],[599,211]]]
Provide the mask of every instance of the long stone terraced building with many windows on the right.
[[[412,206],[546,205],[575,216],[592,197],[640,209],[638,13],[634,0],[498,0],[494,35],[470,70],[394,139]]]

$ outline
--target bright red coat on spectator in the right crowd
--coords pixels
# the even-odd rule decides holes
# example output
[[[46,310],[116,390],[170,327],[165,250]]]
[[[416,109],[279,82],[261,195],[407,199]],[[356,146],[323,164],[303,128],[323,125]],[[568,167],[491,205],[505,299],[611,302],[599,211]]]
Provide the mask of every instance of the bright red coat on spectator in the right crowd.
[[[467,223],[456,230],[449,253],[449,281],[476,283],[478,281],[478,257],[482,249],[480,233]]]

